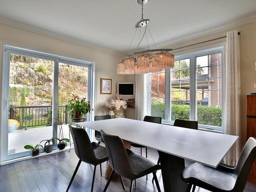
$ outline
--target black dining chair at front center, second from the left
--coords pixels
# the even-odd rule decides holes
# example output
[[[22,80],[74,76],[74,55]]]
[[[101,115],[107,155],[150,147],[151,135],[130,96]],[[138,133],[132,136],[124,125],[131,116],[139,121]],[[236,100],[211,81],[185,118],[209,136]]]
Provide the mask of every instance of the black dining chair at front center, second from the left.
[[[131,180],[130,192],[133,191],[134,181],[135,188],[137,188],[136,179],[153,173],[157,190],[158,192],[161,191],[156,176],[156,172],[160,169],[160,165],[153,163],[141,155],[133,153],[129,149],[126,149],[120,137],[108,135],[102,130],[100,132],[105,141],[110,166],[113,169],[103,191],[106,191],[108,188],[114,173],[117,173],[119,176]]]

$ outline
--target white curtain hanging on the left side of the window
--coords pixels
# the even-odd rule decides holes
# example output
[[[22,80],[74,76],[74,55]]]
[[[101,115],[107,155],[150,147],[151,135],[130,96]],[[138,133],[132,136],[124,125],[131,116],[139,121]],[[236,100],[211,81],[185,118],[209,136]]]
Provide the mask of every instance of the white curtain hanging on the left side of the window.
[[[135,83],[135,118],[137,120],[143,120],[147,113],[146,74],[136,75]]]

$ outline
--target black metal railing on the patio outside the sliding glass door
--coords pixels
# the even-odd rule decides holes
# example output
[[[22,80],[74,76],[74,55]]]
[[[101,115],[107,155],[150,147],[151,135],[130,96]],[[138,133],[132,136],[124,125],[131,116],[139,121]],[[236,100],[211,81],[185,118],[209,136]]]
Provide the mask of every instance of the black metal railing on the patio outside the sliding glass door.
[[[10,106],[9,119],[15,119],[20,127],[52,125],[52,105]],[[58,105],[58,122],[71,123],[68,105]]]

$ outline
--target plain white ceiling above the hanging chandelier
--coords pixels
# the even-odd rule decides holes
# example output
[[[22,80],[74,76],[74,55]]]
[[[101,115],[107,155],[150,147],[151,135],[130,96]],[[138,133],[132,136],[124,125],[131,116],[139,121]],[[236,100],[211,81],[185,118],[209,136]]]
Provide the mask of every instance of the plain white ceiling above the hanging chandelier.
[[[0,17],[123,53],[140,9],[136,0],[0,0]],[[144,6],[156,44],[255,13],[256,0],[148,0]]]

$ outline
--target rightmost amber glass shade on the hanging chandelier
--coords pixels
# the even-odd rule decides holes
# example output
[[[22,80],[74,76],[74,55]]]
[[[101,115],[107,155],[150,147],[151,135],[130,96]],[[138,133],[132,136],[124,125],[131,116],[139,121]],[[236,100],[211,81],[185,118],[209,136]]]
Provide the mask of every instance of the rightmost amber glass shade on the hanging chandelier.
[[[173,68],[174,55],[170,53],[156,53],[152,55],[152,67],[159,68],[160,71],[164,68]]]

